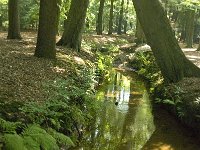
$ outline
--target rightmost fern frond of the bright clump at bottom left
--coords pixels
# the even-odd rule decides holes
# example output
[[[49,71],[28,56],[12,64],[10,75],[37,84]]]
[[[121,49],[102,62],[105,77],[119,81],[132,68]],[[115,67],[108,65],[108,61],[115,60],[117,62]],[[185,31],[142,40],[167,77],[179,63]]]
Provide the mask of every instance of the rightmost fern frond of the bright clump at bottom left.
[[[48,129],[48,133],[53,136],[60,145],[75,146],[72,140],[62,133],[59,133],[51,128]]]

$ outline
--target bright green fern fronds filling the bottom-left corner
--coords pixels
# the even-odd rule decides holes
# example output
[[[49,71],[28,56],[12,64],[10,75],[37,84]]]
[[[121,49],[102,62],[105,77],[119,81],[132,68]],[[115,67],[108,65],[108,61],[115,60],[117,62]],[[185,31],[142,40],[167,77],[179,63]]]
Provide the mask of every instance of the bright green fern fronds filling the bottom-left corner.
[[[13,122],[8,122],[1,119],[0,126],[13,126]],[[3,124],[3,125],[2,125]],[[23,128],[21,133],[16,133],[16,128],[3,128],[1,137],[2,142],[4,143],[5,149],[8,150],[56,150],[59,149],[59,146],[74,146],[74,143],[71,139],[65,136],[62,133],[57,132],[51,128],[46,130],[42,129],[39,125],[31,124]]]

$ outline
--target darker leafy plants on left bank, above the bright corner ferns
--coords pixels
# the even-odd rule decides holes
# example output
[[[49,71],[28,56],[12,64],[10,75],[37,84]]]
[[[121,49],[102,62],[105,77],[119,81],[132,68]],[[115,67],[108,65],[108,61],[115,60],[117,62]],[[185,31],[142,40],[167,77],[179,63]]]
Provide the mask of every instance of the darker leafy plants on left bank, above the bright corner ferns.
[[[31,123],[52,127],[61,132],[80,134],[80,126],[87,125],[96,111],[93,101],[94,76],[87,68],[77,70],[65,80],[57,79],[46,85],[51,97],[41,103],[28,102],[22,112]]]

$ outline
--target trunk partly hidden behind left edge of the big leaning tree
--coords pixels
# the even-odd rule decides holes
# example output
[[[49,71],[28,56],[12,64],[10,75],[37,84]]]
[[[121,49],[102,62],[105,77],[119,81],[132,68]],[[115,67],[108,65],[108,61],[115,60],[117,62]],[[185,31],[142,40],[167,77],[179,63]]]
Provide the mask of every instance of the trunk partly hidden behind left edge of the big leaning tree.
[[[143,44],[145,42],[145,35],[138,19],[136,19],[135,37],[136,37],[135,42],[137,45]]]

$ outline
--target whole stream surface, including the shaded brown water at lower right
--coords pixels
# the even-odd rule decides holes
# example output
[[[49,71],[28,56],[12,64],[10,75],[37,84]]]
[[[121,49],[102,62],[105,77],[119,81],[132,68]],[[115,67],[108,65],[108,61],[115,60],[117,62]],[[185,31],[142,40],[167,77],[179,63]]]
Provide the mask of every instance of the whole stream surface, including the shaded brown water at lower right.
[[[74,150],[200,150],[189,129],[154,108],[145,83],[131,72],[113,69],[97,91],[100,111]]]

